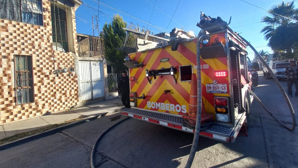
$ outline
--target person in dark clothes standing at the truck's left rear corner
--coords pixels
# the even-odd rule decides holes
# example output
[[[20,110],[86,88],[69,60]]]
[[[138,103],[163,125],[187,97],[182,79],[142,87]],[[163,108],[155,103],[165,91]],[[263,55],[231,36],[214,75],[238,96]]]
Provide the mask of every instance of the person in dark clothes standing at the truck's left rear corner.
[[[122,94],[121,96],[122,104],[126,108],[131,108],[130,101],[129,101],[130,88],[129,88],[129,77],[128,77],[127,70],[122,71],[122,77],[120,77],[120,81],[119,81],[119,90]]]

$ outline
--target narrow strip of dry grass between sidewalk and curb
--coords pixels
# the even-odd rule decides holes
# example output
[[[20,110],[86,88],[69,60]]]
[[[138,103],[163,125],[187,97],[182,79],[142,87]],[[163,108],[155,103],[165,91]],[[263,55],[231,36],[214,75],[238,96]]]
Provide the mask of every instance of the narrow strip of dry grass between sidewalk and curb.
[[[21,139],[21,138],[24,138],[24,137],[28,137],[30,135],[42,133],[42,132],[48,131],[50,129],[55,129],[55,128],[59,127],[59,126],[65,125],[67,123],[72,123],[72,122],[75,122],[75,121],[78,121],[78,120],[82,120],[83,118],[86,118],[86,117],[87,116],[85,116],[85,115],[81,115],[78,118],[75,118],[75,119],[72,119],[72,120],[68,120],[68,121],[64,121],[64,122],[59,123],[59,124],[47,125],[47,126],[44,126],[42,128],[38,128],[38,129],[35,129],[35,130],[32,130],[32,131],[18,133],[18,134],[15,134],[13,136],[10,136],[10,137],[6,137],[6,138],[3,138],[3,139],[0,139],[0,145],[3,144],[3,143],[7,143],[7,142],[18,140],[18,139]]]

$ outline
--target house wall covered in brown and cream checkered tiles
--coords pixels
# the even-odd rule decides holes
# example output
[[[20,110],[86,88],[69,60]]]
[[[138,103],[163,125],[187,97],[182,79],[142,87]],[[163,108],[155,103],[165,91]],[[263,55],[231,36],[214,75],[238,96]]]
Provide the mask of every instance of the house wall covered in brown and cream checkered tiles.
[[[49,1],[43,2],[44,26],[0,19],[0,123],[35,117],[47,112],[61,112],[78,103],[78,81],[75,72],[52,71],[75,67],[77,54],[53,51]],[[68,11],[70,12],[70,11]],[[77,36],[75,11],[72,9],[75,53]],[[34,103],[16,104],[14,55],[30,55],[33,60]],[[69,75],[73,74],[73,75]]]

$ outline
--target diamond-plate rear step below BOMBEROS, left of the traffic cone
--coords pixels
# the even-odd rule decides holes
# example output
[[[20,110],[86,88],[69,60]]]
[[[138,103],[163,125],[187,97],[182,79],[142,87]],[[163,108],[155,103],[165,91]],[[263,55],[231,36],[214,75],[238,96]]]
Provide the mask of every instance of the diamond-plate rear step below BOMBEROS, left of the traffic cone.
[[[175,117],[175,116],[171,116],[171,115],[165,115],[165,114],[159,114],[159,113],[154,113],[154,112],[147,112],[147,111],[143,111],[143,110],[138,110],[138,109],[125,109],[122,110],[123,112],[128,112],[128,113],[133,113],[136,115],[141,115],[141,116],[145,116],[145,117],[150,117],[150,118],[155,118],[157,120],[163,120],[163,121],[168,121],[171,123],[177,123],[177,124],[181,124],[183,123],[183,118],[180,117]]]

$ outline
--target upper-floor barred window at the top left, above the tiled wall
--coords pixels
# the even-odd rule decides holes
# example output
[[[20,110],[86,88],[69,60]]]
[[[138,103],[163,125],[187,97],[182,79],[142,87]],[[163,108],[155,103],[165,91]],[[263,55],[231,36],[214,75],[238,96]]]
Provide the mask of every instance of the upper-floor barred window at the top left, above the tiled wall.
[[[43,26],[42,0],[0,0],[0,19]]]

